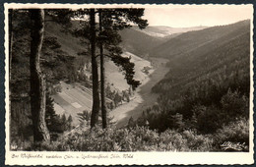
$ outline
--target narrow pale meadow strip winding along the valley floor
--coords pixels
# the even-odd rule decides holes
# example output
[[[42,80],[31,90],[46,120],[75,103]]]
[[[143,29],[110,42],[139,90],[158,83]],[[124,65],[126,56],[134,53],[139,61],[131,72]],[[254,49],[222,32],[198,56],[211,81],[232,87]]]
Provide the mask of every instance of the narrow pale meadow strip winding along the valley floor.
[[[151,89],[168,72],[168,68],[165,67],[167,60],[153,58],[152,62],[154,62],[154,72],[137,88],[131,101],[115,108],[109,113],[109,116],[113,117],[113,122],[116,122],[116,128],[126,126],[131,117],[137,120],[144,110],[157,102],[159,94],[152,93]]]

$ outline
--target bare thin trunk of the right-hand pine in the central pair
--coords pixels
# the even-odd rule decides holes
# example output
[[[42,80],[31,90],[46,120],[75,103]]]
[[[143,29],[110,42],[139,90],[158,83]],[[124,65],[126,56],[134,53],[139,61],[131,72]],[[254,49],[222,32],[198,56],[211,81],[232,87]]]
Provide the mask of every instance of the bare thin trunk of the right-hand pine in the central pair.
[[[102,32],[102,11],[98,10],[99,17],[99,32]],[[105,70],[104,70],[104,57],[103,57],[103,44],[102,41],[99,43],[100,51],[100,92],[101,92],[101,118],[102,118],[102,128],[107,127],[106,123],[106,107],[105,107]]]

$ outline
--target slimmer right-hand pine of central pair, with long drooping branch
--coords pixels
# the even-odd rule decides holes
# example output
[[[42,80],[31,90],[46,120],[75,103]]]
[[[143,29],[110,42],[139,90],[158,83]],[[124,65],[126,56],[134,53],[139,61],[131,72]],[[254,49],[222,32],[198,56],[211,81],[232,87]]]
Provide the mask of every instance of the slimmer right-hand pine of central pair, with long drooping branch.
[[[125,71],[125,79],[127,83],[135,89],[140,82],[134,80],[134,63],[130,62],[130,58],[122,57],[122,49],[118,46],[121,42],[121,36],[118,30],[130,28],[130,23],[134,23],[139,28],[148,26],[147,20],[141,17],[144,15],[144,9],[98,9],[99,34],[98,45],[100,53],[100,93],[101,93],[101,118],[102,128],[107,127],[107,111],[105,107],[104,93],[104,56],[108,56],[117,65],[121,66]],[[103,54],[103,46],[108,52]]]

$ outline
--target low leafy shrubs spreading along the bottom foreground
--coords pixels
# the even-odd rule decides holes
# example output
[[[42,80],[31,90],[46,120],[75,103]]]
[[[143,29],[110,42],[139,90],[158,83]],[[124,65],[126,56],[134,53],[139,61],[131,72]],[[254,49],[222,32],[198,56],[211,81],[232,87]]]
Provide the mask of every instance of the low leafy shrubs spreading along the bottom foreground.
[[[36,150],[54,151],[209,151],[212,140],[192,131],[177,133],[167,130],[159,134],[145,127],[132,129],[94,128],[74,131]]]

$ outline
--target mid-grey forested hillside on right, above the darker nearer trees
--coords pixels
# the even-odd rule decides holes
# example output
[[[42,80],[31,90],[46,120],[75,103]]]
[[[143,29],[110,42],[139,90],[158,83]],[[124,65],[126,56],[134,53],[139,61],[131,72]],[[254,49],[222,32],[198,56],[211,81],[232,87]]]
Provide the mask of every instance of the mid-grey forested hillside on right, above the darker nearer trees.
[[[212,35],[202,37],[206,34],[206,31],[209,31],[209,34]],[[214,33],[214,31],[216,32]],[[190,36],[189,39],[193,37],[193,42],[192,40],[184,40],[184,36]],[[182,41],[182,44],[179,47],[174,47],[173,45],[176,45],[174,39]],[[165,80],[155,86],[155,90],[161,89],[162,92],[166,92],[168,87],[177,90],[177,87],[189,85],[189,82],[194,82],[197,78],[202,79],[204,75],[210,78],[209,74],[213,72],[216,72],[216,75],[218,73],[223,74],[223,72],[229,75],[232,71],[244,69],[244,73],[247,73],[249,70],[249,21],[239,22],[230,26],[187,32],[169,41],[173,42],[173,44],[169,45],[169,48],[175,48],[173,52],[183,48],[183,53],[174,56],[176,54],[169,51],[168,54],[170,56],[168,57],[167,66],[169,66],[170,72],[166,75]],[[196,43],[198,44],[197,46],[195,46]],[[194,45],[193,48],[192,45]],[[169,48],[166,47],[165,50]],[[227,77],[226,75],[225,77]],[[172,81],[171,84],[168,80]]]

